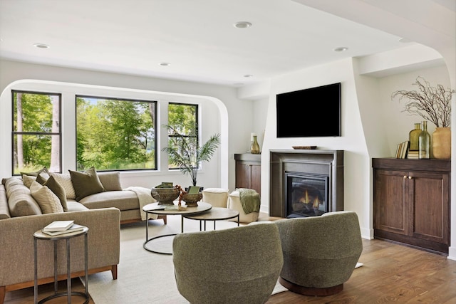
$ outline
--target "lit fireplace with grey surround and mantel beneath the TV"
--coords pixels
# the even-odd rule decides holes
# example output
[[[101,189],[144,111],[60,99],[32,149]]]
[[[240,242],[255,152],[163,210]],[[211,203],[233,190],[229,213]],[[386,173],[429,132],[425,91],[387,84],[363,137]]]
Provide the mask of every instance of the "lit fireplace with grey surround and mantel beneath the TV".
[[[343,210],[342,150],[271,150],[269,174],[270,216]]]

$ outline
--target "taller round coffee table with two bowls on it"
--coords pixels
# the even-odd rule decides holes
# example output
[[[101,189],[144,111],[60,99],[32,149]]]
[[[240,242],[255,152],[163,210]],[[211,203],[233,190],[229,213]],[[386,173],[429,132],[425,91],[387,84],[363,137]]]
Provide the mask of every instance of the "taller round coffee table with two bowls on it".
[[[185,205],[183,205],[185,207]],[[198,201],[198,206],[196,207],[187,207],[182,210],[177,209],[177,204],[174,205],[159,205],[158,203],[147,204],[142,207],[142,210],[145,211],[146,214],[162,214],[162,215],[180,215],[181,218],[181,232],[184,232],[184,216],[190,214],[199,214],[201,212],[207,211],[212,208],[211,204],[204,203],[204,201]],[[145,226],[145,242],[143,247],[147,251],[155,252],[155,253],[162,253],[162,254],[172,254],[172,246],[168,246],[171,248],[167,248],[164,250],[156,250],[154,248],[147,247],[152,243],[153,240],[165,238],[165,237],[174,237],[176,234],[163,234],[161,236],[154,236],[149,239],[149,221],[146,221]]]

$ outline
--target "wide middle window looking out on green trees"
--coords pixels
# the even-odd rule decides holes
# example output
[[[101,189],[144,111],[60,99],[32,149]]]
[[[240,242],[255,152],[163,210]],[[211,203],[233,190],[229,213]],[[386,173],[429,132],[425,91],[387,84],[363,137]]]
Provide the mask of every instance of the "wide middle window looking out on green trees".
[[[157,169],[156,105],[76,96],[76,169]]]

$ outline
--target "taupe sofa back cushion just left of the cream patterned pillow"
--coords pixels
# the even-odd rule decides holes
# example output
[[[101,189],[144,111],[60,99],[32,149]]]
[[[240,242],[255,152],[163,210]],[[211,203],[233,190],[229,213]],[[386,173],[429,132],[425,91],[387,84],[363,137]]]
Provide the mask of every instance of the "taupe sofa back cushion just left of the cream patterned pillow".
[[[3,184],[11,217],[43,214],[40,206],[31,196],[30,189],[24,185],[21,178],[5,178]]]

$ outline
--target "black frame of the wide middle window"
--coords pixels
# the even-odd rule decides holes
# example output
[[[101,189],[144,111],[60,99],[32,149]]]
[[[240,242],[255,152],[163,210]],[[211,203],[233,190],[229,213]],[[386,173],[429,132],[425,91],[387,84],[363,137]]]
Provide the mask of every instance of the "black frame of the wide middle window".
[[[152,103],[154,104],[154,115],[155,115],[155,121],[153,122],[153,128],[155,132],[155,143],[154,143],[154,150],[155,150],[155,157],[154,157],[154,166],[155,168],[144,168],[144,169],[98,169],[98,172],[138,172],[138,171],[160,171],[158,168],[158,142],[160,135],[157,134],[157,120],[159,112],[158,112],[158,105],[159,101],[158,100],[142,100],[139,98],[120,98],[120,97],[109,97],[109,96],[101,96],[101,95],[87,95],[87,94],[75,94],[75,132],[76,132],[76,137],[75,137],[75,144],[76,144],[76,150],[75,150],[75,167],[78,168],[78,117],[77,117],[77,108],[78,108],[78,98],[95,98],[99,100],[120,100],[120,101],[126,101],[126,102],[131,102],[131,103]],[[160,132],[160,130],[158,130]]]

